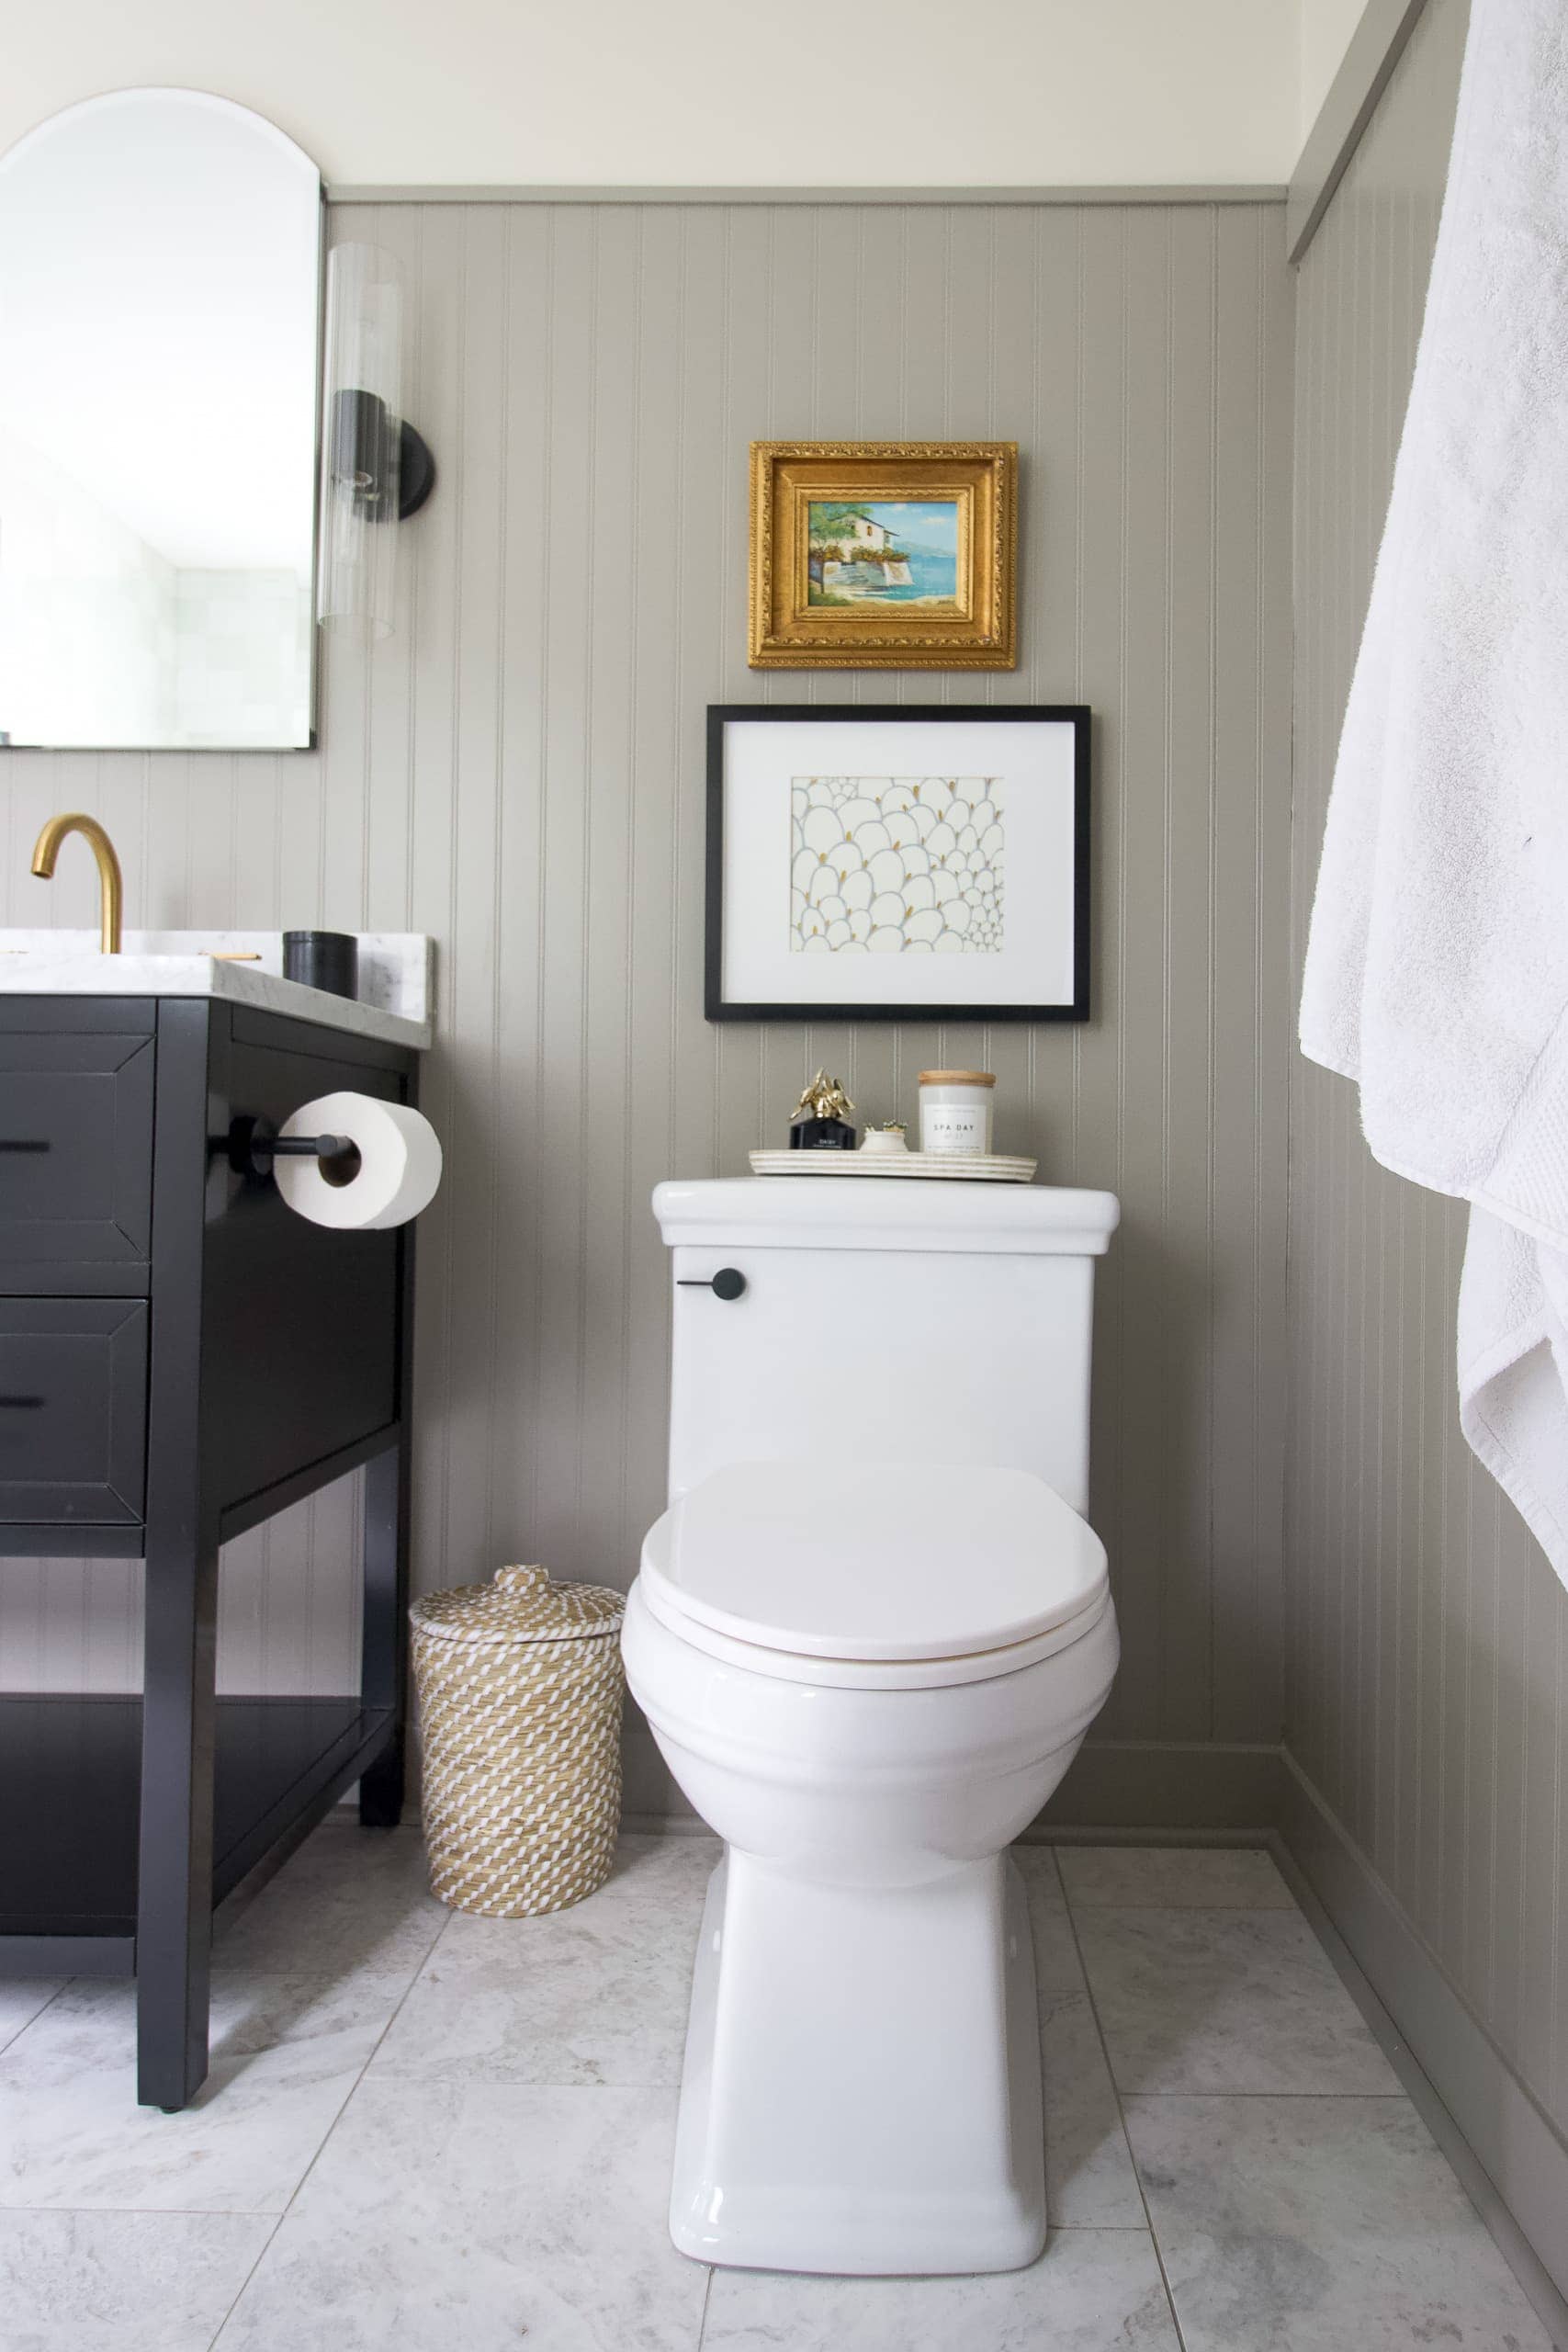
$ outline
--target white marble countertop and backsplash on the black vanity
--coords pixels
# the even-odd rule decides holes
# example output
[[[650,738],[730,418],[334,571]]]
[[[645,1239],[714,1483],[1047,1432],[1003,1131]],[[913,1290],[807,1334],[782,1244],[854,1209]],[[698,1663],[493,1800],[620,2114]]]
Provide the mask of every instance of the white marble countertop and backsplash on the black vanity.
[[[101,955],[96,931],[0,931],[0,995],[219,997],[423,1051],[435,1035],[435,941],[357,936],[360,995],[334,997],[284,981],[282,931],[125,931],[120,955]]]

